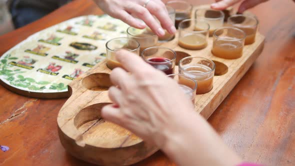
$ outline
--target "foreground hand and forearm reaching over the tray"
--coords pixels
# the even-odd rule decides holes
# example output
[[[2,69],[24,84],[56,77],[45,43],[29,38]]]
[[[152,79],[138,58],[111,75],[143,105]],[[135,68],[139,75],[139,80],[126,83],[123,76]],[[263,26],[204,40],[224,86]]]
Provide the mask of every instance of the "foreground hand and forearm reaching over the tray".
[[[119,124],[157,145],[177,165],[237,165],[241,159],[219,138],[175,80],[121,50],[125,68],[112,70],[109,97],[101,110],[105,120]],[[128,73],[131,72],[131,73]]]

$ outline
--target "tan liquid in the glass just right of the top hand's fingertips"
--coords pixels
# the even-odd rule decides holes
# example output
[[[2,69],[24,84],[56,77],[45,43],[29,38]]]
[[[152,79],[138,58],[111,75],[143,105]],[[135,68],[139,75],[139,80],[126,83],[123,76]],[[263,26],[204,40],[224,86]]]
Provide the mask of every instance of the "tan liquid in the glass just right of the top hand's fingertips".
[[[203,49],[207,46],[207,40],[201,34],[188,34],[178,39],[178,45],[192,50]]]

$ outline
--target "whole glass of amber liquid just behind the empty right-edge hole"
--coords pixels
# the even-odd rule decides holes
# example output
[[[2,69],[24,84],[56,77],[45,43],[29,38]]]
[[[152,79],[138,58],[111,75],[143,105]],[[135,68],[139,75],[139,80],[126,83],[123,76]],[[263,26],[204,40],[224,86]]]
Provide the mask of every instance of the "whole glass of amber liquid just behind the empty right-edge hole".
[[[224,59],[242,56],[246,34],[235,27],[221,27],[213,33],[212,53]]]

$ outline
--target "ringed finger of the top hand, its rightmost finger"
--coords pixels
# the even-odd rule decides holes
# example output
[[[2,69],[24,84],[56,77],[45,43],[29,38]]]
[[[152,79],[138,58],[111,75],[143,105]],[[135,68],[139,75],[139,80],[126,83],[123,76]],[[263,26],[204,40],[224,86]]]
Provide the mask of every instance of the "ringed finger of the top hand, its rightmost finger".
[[[162,27],[165,28],[169,33],[174,34],[176,32],[176,28],[169,17],[166,6],[162,1],[149,1],[149,3],[146,5],[146,8],[151,14],[156,16]]]

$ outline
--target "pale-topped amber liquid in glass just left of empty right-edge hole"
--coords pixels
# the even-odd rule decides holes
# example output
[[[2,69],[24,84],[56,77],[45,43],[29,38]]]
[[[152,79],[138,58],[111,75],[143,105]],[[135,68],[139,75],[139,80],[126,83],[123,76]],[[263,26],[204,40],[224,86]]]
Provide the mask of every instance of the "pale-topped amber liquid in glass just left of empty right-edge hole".
[[[184,67],[184,70],[189,72],[189,73],[184,72],[183,73],[184,75],[189,76],[189,77],[196,80],[196,83],[197,83],[196,94],[207,93],[213,88],[213,75],[214,74],[205,73],[205,72],[211,71],[210,67],[203,65],[203,64],[197,64],[197,65],[193,65],[193,66]]]

